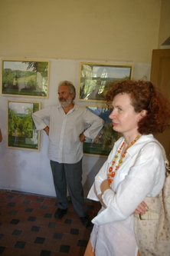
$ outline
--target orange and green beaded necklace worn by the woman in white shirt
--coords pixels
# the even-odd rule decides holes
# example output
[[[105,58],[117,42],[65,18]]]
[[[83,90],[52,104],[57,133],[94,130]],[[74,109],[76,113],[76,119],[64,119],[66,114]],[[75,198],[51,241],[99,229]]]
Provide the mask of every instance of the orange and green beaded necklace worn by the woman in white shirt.
[[[141,136],[141,135],[138,135],[138,136],[136,137],[136,139],[131,142],[131,144],[128,146],[128,148],[130,148],[133,144],[135,144],[136,141],[140,138],[140,136]],[[121,151],[122,151],[124,145],[125,145],[125,140],[123,141],[123,144],[122,144],[122,145],[120,146],[120,148],[118,149],[116,155],[115,155],[114,158],[113,158],[112,166],[110,166],[110,168],[109,168],[109,173],[107,174],[107,179],[108,179],[109,185],[112,184],[113,177],[116,175],[116,171],[119,169],[120,165],[122,165],[123,159],[126,157],[126,151],[128,150],[128,148],[126,148],[126,151],[124,151],[122,157],[119,159],[118,164],[116,165],[115,169],[113,170],[114,165],[116,164],[116,160],[118,159],[119,154],[121,153]]]

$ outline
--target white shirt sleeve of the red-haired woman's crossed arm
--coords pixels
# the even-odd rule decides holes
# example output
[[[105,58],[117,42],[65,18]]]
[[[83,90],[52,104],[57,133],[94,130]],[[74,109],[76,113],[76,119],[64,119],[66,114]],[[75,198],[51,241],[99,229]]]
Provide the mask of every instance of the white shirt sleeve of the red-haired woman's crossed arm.
[[[100,177],[101,178],[101,177]],[[93,219],[95,224],[123,221],[136,210],[145,196],[156,196],[165,181],[165,164],[161,149],[157,145],[142,148],[135,165],[116,191],[107,189],[103,193],[103,202],[107,208]],[[96,182],[100,182],[99,178]]]

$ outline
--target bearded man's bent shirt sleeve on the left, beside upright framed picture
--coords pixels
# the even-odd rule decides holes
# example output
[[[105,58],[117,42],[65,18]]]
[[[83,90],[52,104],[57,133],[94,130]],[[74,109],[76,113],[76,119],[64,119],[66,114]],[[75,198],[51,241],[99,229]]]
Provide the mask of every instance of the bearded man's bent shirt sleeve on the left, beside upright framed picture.
[[[39,111],[36,111],[32,114],[32,118],[34,120],[34,124],[37,130],[43,130],[47,124],[45,123],[45,119],[49,120],[50,117],[50,108],[43,108]]]

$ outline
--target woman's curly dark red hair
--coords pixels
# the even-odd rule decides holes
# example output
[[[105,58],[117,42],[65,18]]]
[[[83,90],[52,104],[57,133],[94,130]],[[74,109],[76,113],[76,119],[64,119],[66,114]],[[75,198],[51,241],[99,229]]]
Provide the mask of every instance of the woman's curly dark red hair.
[[[116,95],[126,93],[130,96],[132,106],[137,113],[144,109],[147,110],[147,115],[138,123],[140,134],[163,132],[169,127],[170,102],[150,81],[124,80],[110,83],[110,88],[106,94],[108,105]]]

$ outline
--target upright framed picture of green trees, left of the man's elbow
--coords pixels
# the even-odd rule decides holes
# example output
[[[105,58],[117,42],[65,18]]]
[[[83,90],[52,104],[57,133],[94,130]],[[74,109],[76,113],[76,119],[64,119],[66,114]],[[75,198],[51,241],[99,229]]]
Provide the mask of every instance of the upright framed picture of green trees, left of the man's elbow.
[[[7,148],[40,150],[40,131],[36,131],[32,113],[41,102],[7,101]]]

